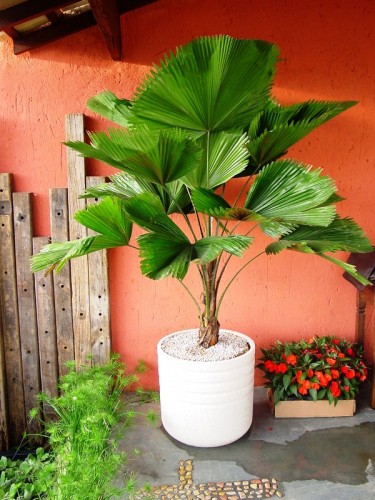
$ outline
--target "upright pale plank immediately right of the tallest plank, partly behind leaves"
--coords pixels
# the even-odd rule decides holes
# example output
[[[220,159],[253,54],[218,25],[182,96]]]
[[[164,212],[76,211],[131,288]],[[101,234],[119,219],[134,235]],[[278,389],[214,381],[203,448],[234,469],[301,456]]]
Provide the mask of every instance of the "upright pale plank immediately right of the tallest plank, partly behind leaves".
[[[87,177],[87,187],[97,186],[105,181],[104,177]],[[92,198],[87,203],[96,203]],[[95,234],[89,231],[89,234]],[[111,352],[110,340],[110,306],[107,251],[89,254],[90,283],[90,319],[91,349],[95,364],[109,361]]]

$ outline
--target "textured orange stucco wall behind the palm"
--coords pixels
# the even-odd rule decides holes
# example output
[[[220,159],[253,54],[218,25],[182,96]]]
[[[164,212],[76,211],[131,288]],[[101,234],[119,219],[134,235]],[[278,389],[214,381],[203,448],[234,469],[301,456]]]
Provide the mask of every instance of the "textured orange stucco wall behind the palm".
[[[359,101],[290,154],[336,179],[347,198],[341,214],[353,216],[375,241],[374,25],[373,0],[159,0],[122,17],[122,62],[110,59],[96,27],[18,57],[1,38],[0,171],[14,174],[16,190],[35,193],[35,234],[48,235],[48,190],[66,186],[67,113],[86,111],[87,99],[103,89],[130,97],[152,63],[193,37],[262,38],[281,48],[275,84],[281,102]],[[86,113],[89,129],[105,126]],[[89,168],[91,175],[112,172]],[[113,348],[129,366],[144,359],[145,382],[156,387],[157,340],[195,326],[196,311],[178,283],[143,278],[137,262],[129,249],[110,253]],[[354,322],[355,290],[342,272],[292,252],[249,266],[221,313],[223,326],[249,334],[258,347],[333,332],[353,338]]]

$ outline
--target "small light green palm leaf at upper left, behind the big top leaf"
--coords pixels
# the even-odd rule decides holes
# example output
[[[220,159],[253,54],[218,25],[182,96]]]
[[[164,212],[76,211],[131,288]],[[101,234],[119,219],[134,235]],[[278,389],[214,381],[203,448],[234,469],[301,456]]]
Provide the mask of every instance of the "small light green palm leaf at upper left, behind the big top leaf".
[[[119,99],[113,92],[106,90],[91,97],[87,101],[87,107],[108,120],[123,127],[129,126],[129,107],[131,102],[127,99]]]

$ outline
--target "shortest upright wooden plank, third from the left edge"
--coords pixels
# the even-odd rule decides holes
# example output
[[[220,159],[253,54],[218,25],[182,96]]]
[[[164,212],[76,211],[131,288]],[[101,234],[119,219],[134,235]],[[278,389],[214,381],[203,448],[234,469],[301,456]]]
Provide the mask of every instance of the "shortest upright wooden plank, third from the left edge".
[[[34,254],[49,243],[47,237],[33,238]],[[53,295],[53,278],[44,271],[35,273],[35,297],[38,322],[39,363],[42,391],[57,396],[57,346],[56,318]]]

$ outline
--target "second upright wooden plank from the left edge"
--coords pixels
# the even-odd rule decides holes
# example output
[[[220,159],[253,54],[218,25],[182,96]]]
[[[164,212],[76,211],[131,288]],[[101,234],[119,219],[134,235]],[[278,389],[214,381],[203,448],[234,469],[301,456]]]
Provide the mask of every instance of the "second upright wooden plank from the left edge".
[[[40,392],[39,347],[36,324],[34,276],[30,271],[32,255],[32,209],[29,193],[13,193],[14,246],[17,271],[18,314],[20,325],[25,411],[36,406]],[[38,420],[27,421],[29,433],[40,432]]]

